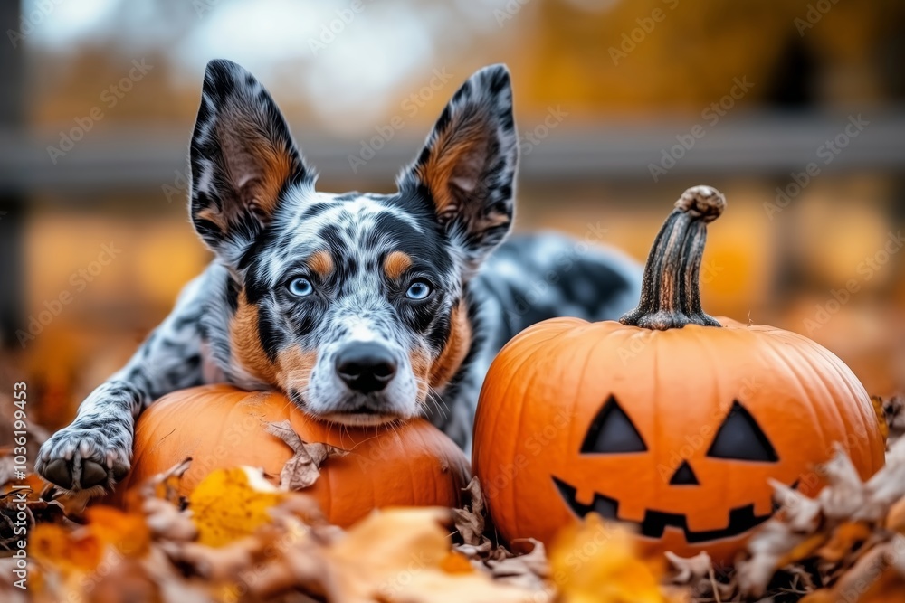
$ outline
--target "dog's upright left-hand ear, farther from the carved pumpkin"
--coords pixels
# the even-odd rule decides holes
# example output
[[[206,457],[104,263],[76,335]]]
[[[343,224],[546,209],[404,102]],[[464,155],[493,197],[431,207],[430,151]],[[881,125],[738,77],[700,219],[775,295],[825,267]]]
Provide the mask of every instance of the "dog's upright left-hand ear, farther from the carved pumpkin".
[[[313,184],[271,95],[232,61],[207,64],[190,159],[195,230],[233,266],[271,221],[281,191]]]

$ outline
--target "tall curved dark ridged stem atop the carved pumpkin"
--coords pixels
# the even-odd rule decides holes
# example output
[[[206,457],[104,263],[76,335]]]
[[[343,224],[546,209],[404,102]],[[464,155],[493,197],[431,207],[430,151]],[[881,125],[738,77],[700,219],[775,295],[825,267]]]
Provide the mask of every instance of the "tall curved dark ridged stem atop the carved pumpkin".
[[[647,257],[638,307],[619,319],[623,325],[657,331],[685,325],[720,326],[700,307],[698,280],[707,223],[719,218],[726,197],[710,186],[692,186],[675,207]]]

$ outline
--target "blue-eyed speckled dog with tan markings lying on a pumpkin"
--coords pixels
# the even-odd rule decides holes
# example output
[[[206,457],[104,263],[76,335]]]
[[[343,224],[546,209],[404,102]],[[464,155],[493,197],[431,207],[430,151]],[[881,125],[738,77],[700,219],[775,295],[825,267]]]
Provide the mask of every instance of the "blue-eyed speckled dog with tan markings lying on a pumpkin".
[[[618,317],[640,291],[641,270],[615,251],[507,239],[518,155],[510,74],[494,65],[455,92],[396,193],[321,193],[267,90],[211,61],[189,215],[214,262],[35,470],[104,494],[129,471],[141,412],[209,382],[279,390],[347,425],[424,416],[467,450],[484,374],[510,337],[553,316]]]

